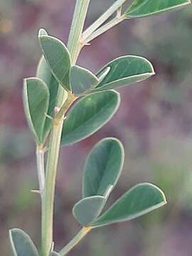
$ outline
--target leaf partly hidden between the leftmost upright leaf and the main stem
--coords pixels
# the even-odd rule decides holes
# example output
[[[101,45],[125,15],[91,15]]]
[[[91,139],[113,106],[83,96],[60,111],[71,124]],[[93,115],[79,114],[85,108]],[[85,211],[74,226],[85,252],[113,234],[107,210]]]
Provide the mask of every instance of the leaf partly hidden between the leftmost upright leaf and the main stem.
[[[48,115],[50,117],[53,117],[54,114],[54,108],[57,103],[57,95],[58,95],[58,81],[55,80],[54,76],[52,75],[50,68],[48,64],[46,63],[45,58],[42,56],[41,60],[38,64],[37,78],[40,78],[44,82],[46,82],[46,85],[48,86],[49,90],[49,104],[48,104]],[[43,137],[47,137],[48,133],[50,132],[51,127],[51,120],[49,118],[46,118],[46,124],[44,127]]]

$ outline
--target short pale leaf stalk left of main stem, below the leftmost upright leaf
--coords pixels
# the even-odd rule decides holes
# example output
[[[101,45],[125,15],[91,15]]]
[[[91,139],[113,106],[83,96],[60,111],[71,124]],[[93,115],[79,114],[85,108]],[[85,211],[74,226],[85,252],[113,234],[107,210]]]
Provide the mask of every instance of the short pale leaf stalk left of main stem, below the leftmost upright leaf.
[[[43,149],[43,146],[37,145],[36,159],[37,159],[37,169],[38,169],[38,184],[39,184],[39,191],[41,192],[41,196],[43,193],[43,189],[45,188],[45,181],[46,181],[44,154],[45,154],[45,149]]]

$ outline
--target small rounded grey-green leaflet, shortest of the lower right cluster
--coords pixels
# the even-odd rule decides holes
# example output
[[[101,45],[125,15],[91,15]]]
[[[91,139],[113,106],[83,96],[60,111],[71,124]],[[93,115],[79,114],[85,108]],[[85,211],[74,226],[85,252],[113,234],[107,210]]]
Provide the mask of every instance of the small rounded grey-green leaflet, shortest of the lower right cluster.
[[[81,225],[88,225],[100,215],[105,202],[104,196],[83,198],[73,207],[73,215]]]

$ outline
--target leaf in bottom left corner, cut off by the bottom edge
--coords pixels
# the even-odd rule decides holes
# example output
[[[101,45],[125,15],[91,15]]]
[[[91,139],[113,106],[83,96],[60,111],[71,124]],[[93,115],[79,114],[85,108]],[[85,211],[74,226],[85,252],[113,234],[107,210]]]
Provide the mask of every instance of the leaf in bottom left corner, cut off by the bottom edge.
[[[9,230],[14,256],[38,256],[36,246],[28,234],[18,228]]]

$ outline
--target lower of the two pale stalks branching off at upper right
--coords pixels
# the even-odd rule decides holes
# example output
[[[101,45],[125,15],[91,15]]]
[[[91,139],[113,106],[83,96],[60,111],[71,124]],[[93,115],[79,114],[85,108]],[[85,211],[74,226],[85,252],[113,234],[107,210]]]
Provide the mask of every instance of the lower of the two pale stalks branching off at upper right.
[[[115,18],[112,19],[112,21],[109,21],[108,23],[106,23],[104,26],[98,28],[95,32],[93,32],[90,36],[88,36],[85,40],[85,44],[89,43],[90,41],[92,41],[93,39],[97,38],[97,36],[100,36],[102,33],[105,33],[106,31],[108,31],[110,28],[116,26],[117,24],[119,24],[120,22],[122,22],[124,20],[124,15],[122,16],[117,16]]]

